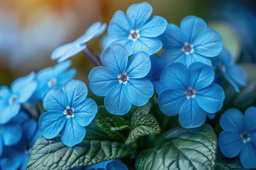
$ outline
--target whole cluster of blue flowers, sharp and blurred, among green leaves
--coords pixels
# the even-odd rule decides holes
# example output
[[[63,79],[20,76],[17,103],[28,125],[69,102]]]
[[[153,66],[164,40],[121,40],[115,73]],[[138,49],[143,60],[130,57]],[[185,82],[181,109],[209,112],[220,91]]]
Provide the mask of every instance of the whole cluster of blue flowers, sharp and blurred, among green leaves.
[[[246,85],[242,68],[234,64],[231,53],[222,47],[220,34],[210,29],[204,20],[188,16],[181,21],[179,28],[167,24],[160,16],[150,18],[151,13],[152,7],[147,2],[131,5],[126,15],[117,11],[107,30],[111,42],[103,44],[107,47],[100,58],[93,56],[86,45],[106,29],[106,24],[96,22],[74,42],[54,50],[51,58],[58,59],[59,64],[18,78],[10,88],[0,87],[2,169],[8,169],[5,167],[7,161],[16,162],[13,163],[15,168],[9,169],[24,169],[25,163],[17,161],[19,155],[14,154],[18,151],[13,148],[23,149],[23,154],[29,153],[40,133],[46,139],[52,139],[61,132],[61,141],[69,147],[84,139],[85,126],[97,114],[97,104],[86,98],[87,86],[72,79],[76,70],[68,69],[71,62],[64,61],[81,51],[88,54],[96,65],[89,73],[91,91],[97,96],[105,96],[104,106],[114,115],[128,113],[132,105],[145,105],[155,89],[162,113],[179,115],[182,127],[195,128],[204,124],[207,115],[222,108],[225,93],[220,81],[216,80],[219,75],[236,92],[239,92],[238,85]],[[156,53],[162,47],[165,51],[158,57]],[[38,130],[24,103],[35,104],[40,100],[43,100],[46,112],[38,119]],[[233,109],[227,110],[220,119],[224,129],[219,138],[221,151],[227,157],[235,157],[241,152],[242,165],[249,168],[256,167],[252,161],[256,159],[256,133],[252,128],[256,125],[255,114],[256,108],[249,108],[243,118]],[[18,118],[20,116],[26,119]],[[238,123],[241,119],[243,124]],[[127,170],[127,167],[115,160],[83,169]]]

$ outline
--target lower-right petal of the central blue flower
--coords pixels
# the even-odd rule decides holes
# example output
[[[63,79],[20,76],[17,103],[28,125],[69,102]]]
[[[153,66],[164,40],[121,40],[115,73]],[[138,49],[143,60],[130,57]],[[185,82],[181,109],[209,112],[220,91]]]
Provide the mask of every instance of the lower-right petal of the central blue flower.
[[[127,97],[135,106],[142,106],[146,104],[154,93],[153,84],[146,78],[130,78],[127,81],[126,87]]]

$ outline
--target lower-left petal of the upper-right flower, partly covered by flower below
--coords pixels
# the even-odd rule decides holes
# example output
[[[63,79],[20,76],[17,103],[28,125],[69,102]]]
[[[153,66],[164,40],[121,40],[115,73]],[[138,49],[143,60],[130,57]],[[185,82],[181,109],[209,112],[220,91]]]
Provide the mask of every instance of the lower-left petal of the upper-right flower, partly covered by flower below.
[[[173,62],[180,62],[186,64],[186,53],[181,49],[170,49],[166,50],[161,54],[161,61],[164,64],[164,67],[167,67]]]

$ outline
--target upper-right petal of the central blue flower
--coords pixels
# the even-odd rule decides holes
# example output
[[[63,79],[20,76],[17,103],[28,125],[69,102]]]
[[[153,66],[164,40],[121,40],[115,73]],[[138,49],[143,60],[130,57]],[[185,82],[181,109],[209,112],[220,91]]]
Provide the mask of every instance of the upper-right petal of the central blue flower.
[[[129,60],[126,74],[129,78],[145,77],[151,68],[150,57],[145,52],[135,53]]]

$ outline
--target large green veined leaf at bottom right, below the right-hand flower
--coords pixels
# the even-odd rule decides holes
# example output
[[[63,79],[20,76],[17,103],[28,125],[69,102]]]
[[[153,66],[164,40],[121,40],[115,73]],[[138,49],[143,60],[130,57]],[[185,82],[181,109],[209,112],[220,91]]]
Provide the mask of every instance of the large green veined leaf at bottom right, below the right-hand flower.
[[[217,139],[208,124],[173,128],[155,148],[141,152],[137,170],[213,170]]]

